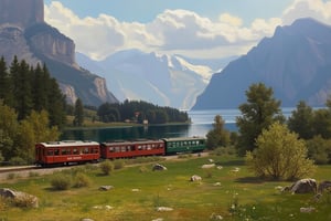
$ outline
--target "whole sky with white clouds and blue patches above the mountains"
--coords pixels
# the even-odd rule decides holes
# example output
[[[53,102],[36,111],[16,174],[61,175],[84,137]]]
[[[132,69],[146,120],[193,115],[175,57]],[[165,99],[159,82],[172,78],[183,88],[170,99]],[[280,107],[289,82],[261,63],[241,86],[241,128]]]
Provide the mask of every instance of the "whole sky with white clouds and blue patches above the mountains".
[[[331,0],[44,0],[45,21],[94,60],[138,49],[195,59],[246,54],[276,27],[311,17],[331,25]]]

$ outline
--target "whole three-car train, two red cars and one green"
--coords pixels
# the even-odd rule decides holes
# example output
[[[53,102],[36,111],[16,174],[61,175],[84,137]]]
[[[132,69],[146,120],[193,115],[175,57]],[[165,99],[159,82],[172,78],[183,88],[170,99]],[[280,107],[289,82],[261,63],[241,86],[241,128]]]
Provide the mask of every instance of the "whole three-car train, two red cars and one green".
[[[161,139],[62,140],[35,145],[35,165],[42,167],[98,162],[103,159],[167,156],[182,152],[202,152],[204,137],[175,137]]]

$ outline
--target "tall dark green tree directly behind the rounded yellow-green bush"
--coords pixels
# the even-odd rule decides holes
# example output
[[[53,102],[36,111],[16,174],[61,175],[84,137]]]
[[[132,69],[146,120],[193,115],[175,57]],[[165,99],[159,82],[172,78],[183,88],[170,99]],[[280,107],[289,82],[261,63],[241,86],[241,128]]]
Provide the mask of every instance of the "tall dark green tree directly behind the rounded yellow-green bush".
[[[285,120],[280,101],[275,99],[273,95],[273,88],[267,88],[263,83],[253,84],[246,91],[247,103],[239,106],[242,116],[236,118],[239,155],[245,155],[246,150],[256,147],[255,139],[264,128],[276,120]]]

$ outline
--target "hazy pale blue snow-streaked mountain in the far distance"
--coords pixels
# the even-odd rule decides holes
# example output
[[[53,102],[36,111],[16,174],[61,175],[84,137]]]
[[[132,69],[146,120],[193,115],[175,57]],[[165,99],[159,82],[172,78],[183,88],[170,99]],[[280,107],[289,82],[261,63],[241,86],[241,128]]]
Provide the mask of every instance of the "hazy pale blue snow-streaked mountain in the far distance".
[[[182,109],[192,107],[215,72],[201,65],[207,60],[192,60],[190,63],[180,55],[139,50],[120,51],[103,61],[93,61],[84,54],[76,57],[79,65],[104,76],[108,87],[121,101],[141,99]],[[222,65],[217,66],[220,69]]]

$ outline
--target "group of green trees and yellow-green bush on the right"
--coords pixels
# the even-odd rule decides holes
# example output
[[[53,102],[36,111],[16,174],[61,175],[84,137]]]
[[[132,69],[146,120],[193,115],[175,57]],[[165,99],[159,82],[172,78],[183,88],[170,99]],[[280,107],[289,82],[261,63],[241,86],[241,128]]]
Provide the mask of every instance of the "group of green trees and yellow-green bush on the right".
[[[238,106],[237,133],[226,130],[222,116],[215,116],[206,135],[210,149],[224,152],[232,146],[257,176],[273,179],[301,178],[313,172],[314,164],[331,164],[331,99],[316,109],[300,101],[286,118],[271,87],[253,84],[246,97]]]

